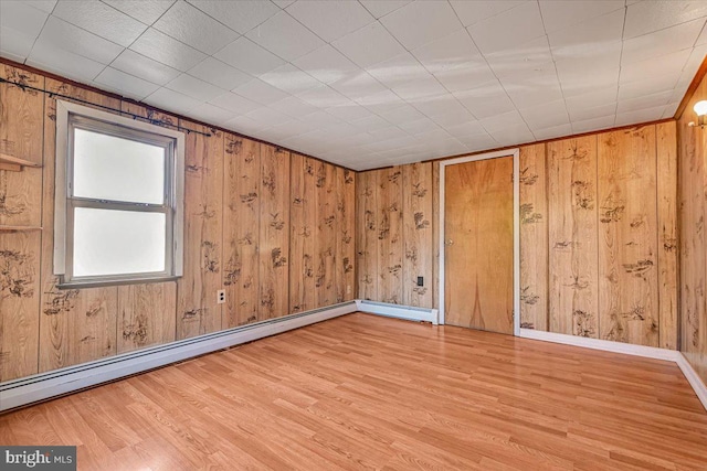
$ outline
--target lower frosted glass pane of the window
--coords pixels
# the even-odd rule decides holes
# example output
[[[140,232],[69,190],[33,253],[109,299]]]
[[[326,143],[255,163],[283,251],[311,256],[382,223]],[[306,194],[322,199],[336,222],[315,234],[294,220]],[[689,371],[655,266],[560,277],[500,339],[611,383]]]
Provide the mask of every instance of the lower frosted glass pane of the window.
[[[165,270],[163,213],[76,207],[74,276]]]

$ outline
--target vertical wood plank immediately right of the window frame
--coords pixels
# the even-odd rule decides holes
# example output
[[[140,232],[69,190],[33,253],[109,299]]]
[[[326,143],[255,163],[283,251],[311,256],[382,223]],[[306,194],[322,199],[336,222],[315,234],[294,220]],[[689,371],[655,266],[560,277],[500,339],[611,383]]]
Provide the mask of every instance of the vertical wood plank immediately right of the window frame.
[[[177,282],[177,339],[221,329],[223,133],[180,120],[184,152],[184,274]]]

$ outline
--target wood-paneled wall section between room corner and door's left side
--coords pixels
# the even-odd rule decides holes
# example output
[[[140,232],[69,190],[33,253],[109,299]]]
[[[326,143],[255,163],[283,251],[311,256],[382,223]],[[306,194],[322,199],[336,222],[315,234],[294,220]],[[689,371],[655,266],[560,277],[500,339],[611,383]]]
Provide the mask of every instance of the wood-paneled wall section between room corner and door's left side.
[[[432,308],[432,183],[429,162],[357,174],[359,298]]]

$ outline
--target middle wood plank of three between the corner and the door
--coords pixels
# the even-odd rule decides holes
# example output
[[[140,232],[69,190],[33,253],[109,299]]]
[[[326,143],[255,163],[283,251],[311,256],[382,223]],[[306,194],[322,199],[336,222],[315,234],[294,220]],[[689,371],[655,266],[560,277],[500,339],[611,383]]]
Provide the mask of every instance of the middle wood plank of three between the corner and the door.
[[[379,170],[378,250],[379,298],[383,302],[402,302],[402,169]]]

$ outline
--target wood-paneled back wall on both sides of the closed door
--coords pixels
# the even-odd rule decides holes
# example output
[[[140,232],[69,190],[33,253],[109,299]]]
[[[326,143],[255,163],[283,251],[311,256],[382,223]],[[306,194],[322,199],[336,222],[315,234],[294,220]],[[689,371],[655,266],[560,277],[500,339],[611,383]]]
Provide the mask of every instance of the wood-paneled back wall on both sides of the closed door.
[[[663,122],[520,148],[524,328],[677,349],[675,132]],[[411,275],[431,276],[439,263],[441,222],[430,216],[437,203],[431,194],[411,203],[419,186],[404,176],[424,174],[420,186],[436,194],[439,163],[431,165],[359,173],[360,298],[439,306],[436,289],[424,300],[407,295],[415,292]],[[424,227],[409,231],[418,213]],[[424,263],[412,265],[409,254]]]

